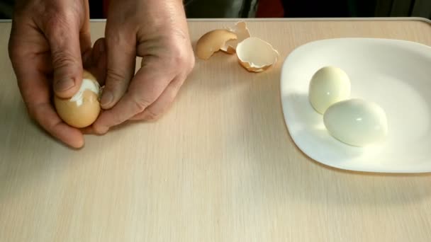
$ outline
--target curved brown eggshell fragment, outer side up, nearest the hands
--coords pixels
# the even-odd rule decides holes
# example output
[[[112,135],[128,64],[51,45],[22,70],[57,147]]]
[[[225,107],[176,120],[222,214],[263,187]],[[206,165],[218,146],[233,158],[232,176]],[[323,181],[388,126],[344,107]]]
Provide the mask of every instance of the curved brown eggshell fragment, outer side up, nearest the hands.
[[[228,40],[236,40],[237,35],[229,30],[212,30],[202,35],[196,43],[196,55],[200,59],[209,59],[215,52],[227,52]]]

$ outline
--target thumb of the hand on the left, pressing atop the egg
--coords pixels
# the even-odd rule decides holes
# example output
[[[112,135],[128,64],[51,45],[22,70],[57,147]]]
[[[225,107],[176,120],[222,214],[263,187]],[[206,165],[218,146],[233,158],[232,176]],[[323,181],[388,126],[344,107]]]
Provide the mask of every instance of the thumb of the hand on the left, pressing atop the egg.
[[[55,95],[70,98],[82,83],[79,25],[73,21],[57,21],[45,33],[51,50]]]

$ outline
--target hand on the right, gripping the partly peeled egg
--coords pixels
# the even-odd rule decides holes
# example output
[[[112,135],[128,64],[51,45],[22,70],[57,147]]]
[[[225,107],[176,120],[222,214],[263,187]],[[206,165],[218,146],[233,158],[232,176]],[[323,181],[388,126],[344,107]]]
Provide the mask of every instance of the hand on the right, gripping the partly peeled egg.
[[[157,119],[195,62],[181,0],[111,1],[105,37],[104,110],[92,125],[98,134],[127,120]]]

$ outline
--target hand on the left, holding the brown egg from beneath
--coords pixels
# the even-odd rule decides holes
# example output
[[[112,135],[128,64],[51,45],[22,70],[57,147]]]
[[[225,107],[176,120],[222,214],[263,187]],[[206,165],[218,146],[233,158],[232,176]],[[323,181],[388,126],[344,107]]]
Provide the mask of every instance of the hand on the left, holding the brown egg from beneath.
[[[30,117],[74,148],[84,145],[84,137],[57,115],[51,102],[52,85],[55,95],[72,97],[82,82],[82,63],[102,63],[98,59],[103,46],[101,39],[91,48],[88,0],[16,2],[9,57],[21,96]],[[98,72],[98,67],[94,69]]]

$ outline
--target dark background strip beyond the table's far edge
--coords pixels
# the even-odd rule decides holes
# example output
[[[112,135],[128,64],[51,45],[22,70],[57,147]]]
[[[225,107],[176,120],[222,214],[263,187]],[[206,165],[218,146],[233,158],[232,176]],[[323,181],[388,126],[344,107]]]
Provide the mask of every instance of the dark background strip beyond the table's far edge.
[[[71,0],[72,1],[72,0]],[[91,18],[106,18],[103,2],[90,0]],[[184,0],[188,18],[431,18],[431,0]],[[0,0],[0,18],[11,18],[13,0]]]

